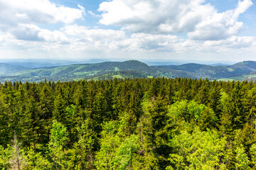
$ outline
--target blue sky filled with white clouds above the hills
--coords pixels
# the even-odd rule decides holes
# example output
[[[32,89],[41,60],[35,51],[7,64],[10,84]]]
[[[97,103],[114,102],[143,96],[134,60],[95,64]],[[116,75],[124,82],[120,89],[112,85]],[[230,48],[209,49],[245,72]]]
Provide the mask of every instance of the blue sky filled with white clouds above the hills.
[[[0,0],[0,59],[256,60],[255,0]]]

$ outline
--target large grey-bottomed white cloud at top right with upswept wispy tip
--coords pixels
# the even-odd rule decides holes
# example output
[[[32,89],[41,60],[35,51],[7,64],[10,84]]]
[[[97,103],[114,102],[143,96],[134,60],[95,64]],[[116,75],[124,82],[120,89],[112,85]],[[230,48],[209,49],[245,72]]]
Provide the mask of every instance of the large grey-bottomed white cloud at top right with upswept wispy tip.
[[[100,4],[100,23],[122,26],[132,33],[188,33],[194,40],[221,40],[237,35],[241,13],[251,0],[238,1],[237,8],[218,13],[204,0],[112,0]]]

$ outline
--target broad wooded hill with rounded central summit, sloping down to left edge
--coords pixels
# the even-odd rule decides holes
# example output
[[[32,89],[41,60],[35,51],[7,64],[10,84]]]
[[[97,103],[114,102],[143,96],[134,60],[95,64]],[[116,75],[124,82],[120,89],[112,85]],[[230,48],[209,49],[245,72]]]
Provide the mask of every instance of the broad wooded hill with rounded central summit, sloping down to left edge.
[[[0,81],[43,81],[44,79],[53,81],[68,81],[78,79],[102,79],[102,77],[110,77],[110,74],[114,74],[119,78],[134,78],[156,76],[157,70],[158,69],[149,67],[143,62],[129,60],[126,62],[72,64],[66,66],[30,69],[23,72],[16,72],[9,75],[9,77],[0,77]],[[119,75],[117,73],[119,73]]]

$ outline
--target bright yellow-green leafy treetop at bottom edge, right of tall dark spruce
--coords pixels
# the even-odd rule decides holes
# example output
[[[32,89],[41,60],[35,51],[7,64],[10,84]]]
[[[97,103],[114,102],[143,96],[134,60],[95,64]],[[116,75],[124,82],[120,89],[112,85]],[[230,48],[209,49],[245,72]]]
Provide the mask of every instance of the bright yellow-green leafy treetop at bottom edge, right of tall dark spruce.
[[[215,130],[202,132],[195,128],[192,134],[186,130],[174,136],[171,145],[175,154],[170,154],[168,169],[226,169],[228,151],[226,140]]]

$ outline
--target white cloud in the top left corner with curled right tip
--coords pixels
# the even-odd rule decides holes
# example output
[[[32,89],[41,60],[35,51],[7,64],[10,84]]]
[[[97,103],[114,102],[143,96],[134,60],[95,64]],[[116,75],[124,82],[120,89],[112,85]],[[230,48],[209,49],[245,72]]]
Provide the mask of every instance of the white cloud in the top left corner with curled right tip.
[[[78,7],[60,6],[48,0],[0,0],[0,28],[17,23],[73,23],[85,12],[85,8]]]

